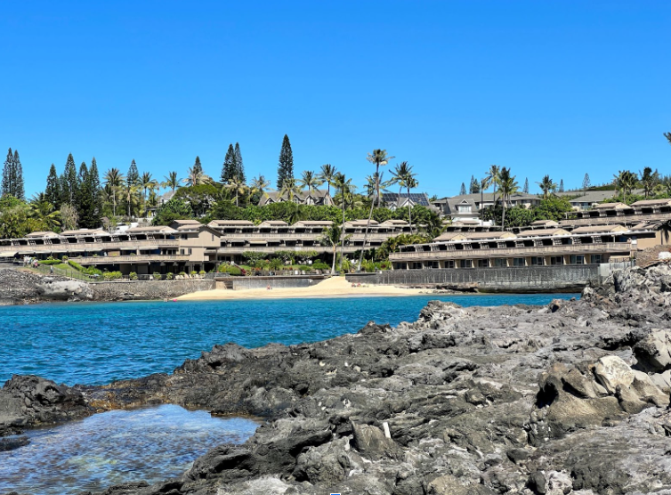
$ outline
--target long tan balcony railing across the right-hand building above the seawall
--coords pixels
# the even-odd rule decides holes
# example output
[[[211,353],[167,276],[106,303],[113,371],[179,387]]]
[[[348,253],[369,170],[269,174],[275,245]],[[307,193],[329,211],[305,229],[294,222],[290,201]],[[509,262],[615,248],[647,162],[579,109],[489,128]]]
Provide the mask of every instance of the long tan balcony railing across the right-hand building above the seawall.
[[[542,246],[529,248],[488,248],[488,249],[459,249],[457,251],[417,251],[407,253],[392,253],[391,261],[407,260],[449,260],[449,259],[477,259],[489,257],[523,257],[523,256],[556,256],[582,255],[583,253],[622,253],[629,252],[632,245],[628,242],[604,242],[602,244],[568,244],[562,246]]]

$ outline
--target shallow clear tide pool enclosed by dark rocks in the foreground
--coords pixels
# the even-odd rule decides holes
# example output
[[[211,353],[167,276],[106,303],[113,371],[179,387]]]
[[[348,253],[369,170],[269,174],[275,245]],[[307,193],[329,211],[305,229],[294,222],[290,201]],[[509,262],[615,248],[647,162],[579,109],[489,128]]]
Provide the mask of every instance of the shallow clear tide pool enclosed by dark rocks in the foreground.
[[[182,475],[216,445],[245,442],[258,425],[164,405],[28,431],[28,445],[0,451],[0,493],[62,495],[157,483]]]

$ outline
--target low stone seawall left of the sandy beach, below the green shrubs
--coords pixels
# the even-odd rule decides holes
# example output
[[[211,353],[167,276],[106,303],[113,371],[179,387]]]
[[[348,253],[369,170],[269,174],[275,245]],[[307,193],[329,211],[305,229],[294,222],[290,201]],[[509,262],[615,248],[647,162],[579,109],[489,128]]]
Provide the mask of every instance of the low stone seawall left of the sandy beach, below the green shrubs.
[[[211,290],[214,280],[116,280],[93,282],[89,286],[93,288],[93,299],[97,301],[148,300]]]

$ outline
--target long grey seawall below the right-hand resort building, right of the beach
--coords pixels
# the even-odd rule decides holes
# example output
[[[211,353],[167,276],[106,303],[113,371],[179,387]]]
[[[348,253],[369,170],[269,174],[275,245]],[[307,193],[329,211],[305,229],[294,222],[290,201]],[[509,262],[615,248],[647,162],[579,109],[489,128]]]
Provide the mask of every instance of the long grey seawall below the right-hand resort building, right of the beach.
[[[481,292],[574,292],[601,283],[598,264],[471,268],[461,270],[393,270],[349,274],[354,283],[440,287]]]

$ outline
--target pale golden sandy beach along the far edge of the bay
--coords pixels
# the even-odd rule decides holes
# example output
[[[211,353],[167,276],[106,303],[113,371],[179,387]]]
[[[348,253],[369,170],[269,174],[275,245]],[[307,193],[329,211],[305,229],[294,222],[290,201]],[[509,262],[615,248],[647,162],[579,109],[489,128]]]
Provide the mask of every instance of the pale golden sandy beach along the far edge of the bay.
[[[301,297],[352,297],[352,296],[417,296],[426,294],[426,289],[400,288],[392,286],[352,287],[344,277],[323,280],[311,287],[302,288],[247,288],[241,290],[202,290],[177,297],[179,301],[223,300],[223,299],[284,299]]]

